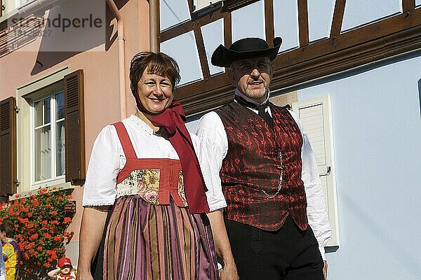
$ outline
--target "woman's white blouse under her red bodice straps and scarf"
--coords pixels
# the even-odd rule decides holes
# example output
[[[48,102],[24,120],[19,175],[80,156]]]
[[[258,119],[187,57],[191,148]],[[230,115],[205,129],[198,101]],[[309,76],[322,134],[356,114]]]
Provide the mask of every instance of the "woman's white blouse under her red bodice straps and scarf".
[[[128,137],[138,158],[169,158],[179,160],[170,141],[155,134],[149,125],[137,116],[130,116],[121,122],[126,127]],[[199,139],[190,134],[194,150],[199,149]],[[199,156],[198,156],[199,158]],[[126,165],[126,156],[114,125],[107,125],[98,134],[86,174],[82,205],[112,205],[116,200],[117,175]]]

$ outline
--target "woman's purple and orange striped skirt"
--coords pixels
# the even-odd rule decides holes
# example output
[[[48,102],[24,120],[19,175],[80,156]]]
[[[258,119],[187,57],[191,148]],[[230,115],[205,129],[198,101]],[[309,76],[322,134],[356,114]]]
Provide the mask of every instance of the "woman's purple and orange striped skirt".
[[[206,214],[119,197],[105,237],[106,280],[219,279]]]

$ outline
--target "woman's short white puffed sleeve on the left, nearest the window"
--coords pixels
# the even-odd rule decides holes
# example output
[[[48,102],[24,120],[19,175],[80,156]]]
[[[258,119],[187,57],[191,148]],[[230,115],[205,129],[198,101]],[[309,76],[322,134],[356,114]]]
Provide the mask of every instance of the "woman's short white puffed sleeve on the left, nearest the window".
[[[93,144],[83,190],[83,207],[114,204],[119,172],[119,139],[114,125],[107,125]]]

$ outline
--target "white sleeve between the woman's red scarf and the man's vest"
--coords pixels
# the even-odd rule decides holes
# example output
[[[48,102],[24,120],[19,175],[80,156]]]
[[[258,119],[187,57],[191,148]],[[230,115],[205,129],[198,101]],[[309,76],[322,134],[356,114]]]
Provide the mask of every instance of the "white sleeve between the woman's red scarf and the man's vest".
[[[206,113],[196,127],[200,139],[198,155],[203,179],[205,180],[206,197],[210,211],[227,207],[220,179],[222,160],[227,155],[228,140],[225,127],[217,113]]]

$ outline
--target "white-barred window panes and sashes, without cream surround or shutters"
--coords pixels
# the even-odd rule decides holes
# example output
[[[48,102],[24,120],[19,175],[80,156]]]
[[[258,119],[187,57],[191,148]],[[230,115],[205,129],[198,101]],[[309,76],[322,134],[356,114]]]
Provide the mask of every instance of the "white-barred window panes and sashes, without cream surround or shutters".
[[[34,185],[65,174],[65,93],[62,89],[33,102]]]

